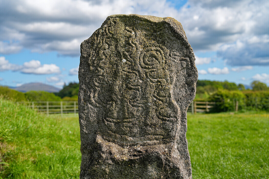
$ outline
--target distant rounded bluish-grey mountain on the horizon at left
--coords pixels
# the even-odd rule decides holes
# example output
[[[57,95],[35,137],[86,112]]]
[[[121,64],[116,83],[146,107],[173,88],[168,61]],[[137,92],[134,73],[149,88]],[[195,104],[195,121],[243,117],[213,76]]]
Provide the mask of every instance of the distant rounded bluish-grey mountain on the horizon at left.
[[[26,91],[47,91],[47,92],[59,92],[61,89],[44,83],[26,83],[19,87],[9,87],[13,90],[26,92]]]

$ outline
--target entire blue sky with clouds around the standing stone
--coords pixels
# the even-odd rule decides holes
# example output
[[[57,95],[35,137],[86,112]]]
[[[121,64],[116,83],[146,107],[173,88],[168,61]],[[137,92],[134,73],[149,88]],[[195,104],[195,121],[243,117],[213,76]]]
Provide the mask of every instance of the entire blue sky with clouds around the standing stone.
[[[269,85],[269,1],[0,0],[0,84],[78,82],[80,43],[112,14],[174,17],[199,79]]]

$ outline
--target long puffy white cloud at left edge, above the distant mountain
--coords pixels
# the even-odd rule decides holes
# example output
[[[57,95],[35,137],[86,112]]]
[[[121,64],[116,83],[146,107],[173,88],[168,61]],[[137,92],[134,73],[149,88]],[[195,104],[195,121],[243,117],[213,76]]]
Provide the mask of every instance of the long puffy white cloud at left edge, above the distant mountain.
[[[9,63],[5,57],[0,57],[0,71],[20,71],[21,73],[28,74],[53,74],[60,73],[60,68],[55,64],[44,64],[41,65],[41,62],[38,60],[31,60],[29,62],[24,62],[23,65],[17,65]]]

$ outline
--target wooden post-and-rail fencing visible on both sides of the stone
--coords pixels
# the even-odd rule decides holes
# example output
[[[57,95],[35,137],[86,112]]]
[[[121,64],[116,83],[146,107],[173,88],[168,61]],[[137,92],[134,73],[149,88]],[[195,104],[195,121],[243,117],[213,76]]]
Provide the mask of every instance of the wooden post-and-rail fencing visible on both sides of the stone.
[[[25,106],[37,110],[38,112],[49,114],[64,114],[64,113],[78,113],[77,101],[23,101],[17,102]],[[187,112],[196,114],[197,112],[209,112],[213,108],[215,102],[193,101]]]

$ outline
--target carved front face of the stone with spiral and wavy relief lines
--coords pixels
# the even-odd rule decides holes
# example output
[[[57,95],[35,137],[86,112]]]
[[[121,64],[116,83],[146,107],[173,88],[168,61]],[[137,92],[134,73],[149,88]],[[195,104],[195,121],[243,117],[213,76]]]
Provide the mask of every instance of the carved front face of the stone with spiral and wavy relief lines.
[[[89,96],[99,135],[128,145],[171,141],[179,113],[173,99],[174,67],[180,58],[146,31],[120,22],[111,21],[94,35]]]

